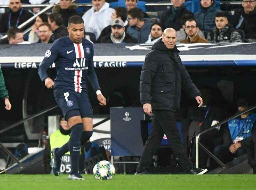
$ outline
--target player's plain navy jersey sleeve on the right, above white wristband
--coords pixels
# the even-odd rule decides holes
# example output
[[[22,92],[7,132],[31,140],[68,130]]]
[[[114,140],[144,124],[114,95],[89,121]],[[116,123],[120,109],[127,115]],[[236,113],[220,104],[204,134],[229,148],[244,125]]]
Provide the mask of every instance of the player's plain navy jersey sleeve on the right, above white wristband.
[[[89,83],[91,84],[93,90],[96,92],[97,90],[101,90],[101,88],[100,88],[100,85],[98,82],[97,75],[94,70],[93,55],[94,55],[94,50],[93,50],[93,46],[92,46],[92,56],[91,56],[91,60],[89,62],[87,79],[88,79]]]

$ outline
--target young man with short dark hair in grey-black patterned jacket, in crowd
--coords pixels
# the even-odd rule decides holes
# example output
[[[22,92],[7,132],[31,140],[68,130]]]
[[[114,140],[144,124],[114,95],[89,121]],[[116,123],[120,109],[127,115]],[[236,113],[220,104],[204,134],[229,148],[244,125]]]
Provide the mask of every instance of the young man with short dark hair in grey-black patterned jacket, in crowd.
[[[224,12],[216,14],[215,24],[216,27],[208,33],[208,41],[212,43],[242,42],[241,35],[228,24],[228,17]]]

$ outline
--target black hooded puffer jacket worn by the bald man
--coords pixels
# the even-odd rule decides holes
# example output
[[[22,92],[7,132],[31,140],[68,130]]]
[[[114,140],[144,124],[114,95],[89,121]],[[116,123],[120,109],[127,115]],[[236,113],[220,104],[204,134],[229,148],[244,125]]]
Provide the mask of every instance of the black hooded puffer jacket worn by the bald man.
[[[179,50],[168,49],[160,39],[145,58],[140,76],[141,104],[150,103],[155,110],[180,108],[181,88],[193,99],[201,93],[182,64]]]

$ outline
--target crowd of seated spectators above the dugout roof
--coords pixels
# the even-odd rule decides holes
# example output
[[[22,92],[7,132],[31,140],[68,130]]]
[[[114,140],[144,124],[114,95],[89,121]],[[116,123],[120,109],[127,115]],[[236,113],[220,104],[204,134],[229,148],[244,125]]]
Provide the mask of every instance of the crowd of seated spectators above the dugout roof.
[[[9,4],[9,10],[6,9],[5,13],[0,10],[3,13],[0,33],[6,34],[11,27],[17,28],[33,16],[32,11],[22,8],[22,3],[36,5],[58,2],[59,4],[54,5],[52,14],[38,15],[34,25],[31,23],[22,28],[25,31],[32,26],[29,35],[24,35],[25,40],[30,43],[42,42],[39,26],[47,22],[52,35],[48,43],[66,36],[68,19],[73,15],[80,15],[85,23],[86,38],[93,43],[154,43],[166,28],[174,28],[177,31],[177,42],[182,43],[256,42],[255,0],[243,0],[242,9],[233,11],[219,10],[215,0],[200,0],[200,9],[195,13],[189,10],[185,0],[171,0],[173,5],[158,18],[144,12],[137,0],[124,0],[123,3],[118,1],[118,7],[113,8],[105,0],[92,0],[93,6],[85,13],[78,13],[78,7],[72,0],[4,0],[1,4]],[[77,2],[89,3],[89,0]],[[113,28],[115,19],[122,21],[121,25]],[[113,36],[123,39],[116,41]],[[102,40],[103,37],[106,38]]]

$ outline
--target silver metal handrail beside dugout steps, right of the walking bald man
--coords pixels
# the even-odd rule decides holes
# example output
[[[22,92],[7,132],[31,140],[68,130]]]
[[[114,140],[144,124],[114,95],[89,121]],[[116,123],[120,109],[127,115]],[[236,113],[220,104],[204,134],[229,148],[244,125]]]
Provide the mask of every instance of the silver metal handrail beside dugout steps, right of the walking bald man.
[[[221,126],[222,124],[228,122],[229,120],[232,120],[232,119],[234,119],[234,118],[236,118],[236,117],[238,117],[238,116],[240,116],[240,115],[242,115],[242,114],[244,114],[244,113],[246,113],[246,112],[249,112],[249,111],[253,110],[254,108],[256,108],[256,104],[253,105],[253,106],[251,106],[250,108],[248,108],[248,109],[242,111],[242,112],[238,112],[237,114],[235,114],[235,115],[233,115],[233,116],[231,116],[231,117],[225,119],[224,121],[222,121],[222,122],[220,122],[220,123],[218,123],[218,124],[216,124],[216,125],[210,127],[209,129],[207,129],[207,130],[205,130],[205,131],[199,133],[199,134],[196,136],[196,167],[197,167],[197,168],[199,168],[199,145],[203,148],[203,150],[206,151],[207,154],[209,154],[211,157],[213,157],[213,159],[214,159],[215,161],[217,161],[222,167],[225,167],[225,164],[224,164],[224,163],[222,163],[218,158],[216,158],[209,150],[207,150],[206,147],[204,147],[204,146],[199,142],[199,141],[200,141],[200,136],[203,135],[203,134],[205,134],[205,133],[207,133],[207,132],[209,132],[209,131],[211,131],[211,130],[213,130],[213,129],[215,129],[215,128],[218,127],[218,126]]]

